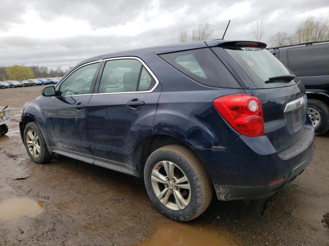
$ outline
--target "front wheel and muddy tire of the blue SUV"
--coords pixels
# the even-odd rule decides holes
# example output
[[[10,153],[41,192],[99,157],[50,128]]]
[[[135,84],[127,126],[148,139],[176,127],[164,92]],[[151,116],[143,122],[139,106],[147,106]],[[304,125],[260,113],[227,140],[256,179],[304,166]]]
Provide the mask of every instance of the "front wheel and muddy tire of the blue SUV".
[[[24,145],[28,155],[36,163],[48,162],[53,157],[35,122],[29,122],[24,129]]]

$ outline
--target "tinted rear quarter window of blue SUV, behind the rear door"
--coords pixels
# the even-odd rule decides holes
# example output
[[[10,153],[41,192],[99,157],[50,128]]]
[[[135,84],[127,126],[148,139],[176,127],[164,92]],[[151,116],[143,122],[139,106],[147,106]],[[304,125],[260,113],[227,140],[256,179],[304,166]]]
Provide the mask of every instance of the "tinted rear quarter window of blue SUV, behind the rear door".
[[[222,61],[209,48],[162,54],[160,57],[204,85],[241,88]]]

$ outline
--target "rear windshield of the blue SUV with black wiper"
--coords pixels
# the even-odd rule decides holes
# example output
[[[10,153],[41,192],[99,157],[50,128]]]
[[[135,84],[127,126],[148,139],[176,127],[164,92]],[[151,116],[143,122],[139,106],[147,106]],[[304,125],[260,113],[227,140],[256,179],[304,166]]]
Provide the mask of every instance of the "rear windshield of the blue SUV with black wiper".
[[[273,79],[291,73],[266,49],[227,47],[224,50],[239,64],[257,88],[275,88],[296,84],[295,80]]]

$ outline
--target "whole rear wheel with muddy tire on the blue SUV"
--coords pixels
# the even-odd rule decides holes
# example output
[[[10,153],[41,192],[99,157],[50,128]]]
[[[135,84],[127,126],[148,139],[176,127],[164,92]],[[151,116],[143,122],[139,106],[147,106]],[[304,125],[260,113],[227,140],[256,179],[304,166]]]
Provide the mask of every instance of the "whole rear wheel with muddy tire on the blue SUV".
[[[155,207],[169,218],[189,221],[209,206],[213,186],[200,159],[188,148],[155,150],[144,168],[144,183]]]

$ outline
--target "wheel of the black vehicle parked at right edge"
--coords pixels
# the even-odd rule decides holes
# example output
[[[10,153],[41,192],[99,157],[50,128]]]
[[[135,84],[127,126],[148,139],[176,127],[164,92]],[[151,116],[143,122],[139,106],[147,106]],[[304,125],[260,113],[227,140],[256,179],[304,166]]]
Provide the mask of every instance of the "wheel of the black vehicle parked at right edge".
[[[316,135],[329,130],[329,106],[318,99],[307,100],[307,114],[310,116]]]

